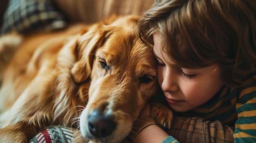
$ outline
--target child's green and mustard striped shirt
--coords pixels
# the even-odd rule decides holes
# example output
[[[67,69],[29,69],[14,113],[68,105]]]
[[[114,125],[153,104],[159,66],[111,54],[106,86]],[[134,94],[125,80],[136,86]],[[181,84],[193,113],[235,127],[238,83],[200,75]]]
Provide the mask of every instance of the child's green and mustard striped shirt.
[[[251,84],[235,89],[223,86],[207,103],[177,115],[219,120],[223,125],[235,127],[234,143],[256,143],[256,73],[251,78],[254,79]],[[163,143],[173,141],[170,138]]]

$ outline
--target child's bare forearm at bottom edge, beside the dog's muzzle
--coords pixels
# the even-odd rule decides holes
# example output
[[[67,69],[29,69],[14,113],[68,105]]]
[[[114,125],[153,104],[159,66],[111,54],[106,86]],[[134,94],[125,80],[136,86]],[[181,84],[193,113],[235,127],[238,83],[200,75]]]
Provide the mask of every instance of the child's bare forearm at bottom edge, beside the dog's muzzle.
[[[157,125],[148,125],[135,137],[134,143],[162,143],[168,136]]]

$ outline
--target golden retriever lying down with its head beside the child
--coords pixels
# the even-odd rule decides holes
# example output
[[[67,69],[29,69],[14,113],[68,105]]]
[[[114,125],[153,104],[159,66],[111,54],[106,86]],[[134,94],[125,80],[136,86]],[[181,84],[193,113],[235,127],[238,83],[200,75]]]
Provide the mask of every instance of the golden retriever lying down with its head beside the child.
[[[139,18],[3,36],[0,56],[16,52],[0,62],[0,143],[26,143],[52,125],[80,128],[88,141],[124,140],[159,90],[152,47],[135,32]],[[170,128],[171,111],[154,105],[153,118]]]

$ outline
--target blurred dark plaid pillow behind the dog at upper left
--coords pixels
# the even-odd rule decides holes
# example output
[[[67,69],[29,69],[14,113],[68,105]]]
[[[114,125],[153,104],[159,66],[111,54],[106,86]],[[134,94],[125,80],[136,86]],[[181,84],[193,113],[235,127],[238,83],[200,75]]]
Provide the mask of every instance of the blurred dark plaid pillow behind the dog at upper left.
[[[56,10],[52,0],[9,0],[3,21],[1,34],[53,31],[67,26],[64,15]]]

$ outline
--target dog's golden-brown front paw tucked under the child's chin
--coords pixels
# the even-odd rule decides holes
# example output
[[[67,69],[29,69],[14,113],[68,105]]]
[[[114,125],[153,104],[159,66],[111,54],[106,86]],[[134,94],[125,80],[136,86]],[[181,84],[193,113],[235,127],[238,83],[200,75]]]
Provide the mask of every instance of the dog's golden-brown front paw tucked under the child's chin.
[[[161,103],[150,103],[150,117],[155,119],[155,122],[162,125],[164,128],[171,128],[173,120],[173,112]]]

